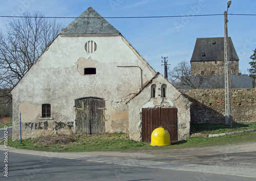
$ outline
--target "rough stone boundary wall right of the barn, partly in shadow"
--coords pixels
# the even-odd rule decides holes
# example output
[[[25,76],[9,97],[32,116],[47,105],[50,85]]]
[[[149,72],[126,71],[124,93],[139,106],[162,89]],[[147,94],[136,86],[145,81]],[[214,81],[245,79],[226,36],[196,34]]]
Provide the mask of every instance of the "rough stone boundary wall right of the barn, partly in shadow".
[[[191,102],[191,123],[225,124],[225,89],[180,89]],[[231,89],[234,122],[256,122],[256,89]]]

